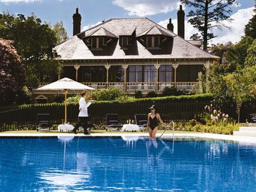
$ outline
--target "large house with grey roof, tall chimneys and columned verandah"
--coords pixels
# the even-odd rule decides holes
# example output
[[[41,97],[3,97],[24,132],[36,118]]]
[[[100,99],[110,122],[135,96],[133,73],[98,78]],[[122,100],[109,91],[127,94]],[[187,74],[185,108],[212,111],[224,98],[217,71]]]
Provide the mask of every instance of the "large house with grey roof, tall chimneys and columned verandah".
[[[198,72],[207,71],[219,57],[202,50],[200,41],[186,41],[182,6],[177,16],[178,35],[171,19],[164,28],[148,18],[109,19],[81,32],[76,8],[73,36],[55,47],[63,61],[59,78],[128,93],[161,92],[164,87],[197,90]]]

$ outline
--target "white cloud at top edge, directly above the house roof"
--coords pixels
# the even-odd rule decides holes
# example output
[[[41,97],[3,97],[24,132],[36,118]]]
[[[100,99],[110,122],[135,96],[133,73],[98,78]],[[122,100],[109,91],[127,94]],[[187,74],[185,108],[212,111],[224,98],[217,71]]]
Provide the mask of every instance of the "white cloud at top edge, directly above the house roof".
[[[175,10],[180,0],[112,0],[114,5],[128,11],[129,16],[152,16]]]

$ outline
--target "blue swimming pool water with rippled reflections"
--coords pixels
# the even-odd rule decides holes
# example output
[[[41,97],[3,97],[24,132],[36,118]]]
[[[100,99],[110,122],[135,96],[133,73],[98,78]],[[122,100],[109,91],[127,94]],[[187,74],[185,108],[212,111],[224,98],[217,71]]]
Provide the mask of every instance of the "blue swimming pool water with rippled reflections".
[[[0,138],[0,191],[256,191],[256,146],[149,138]]]

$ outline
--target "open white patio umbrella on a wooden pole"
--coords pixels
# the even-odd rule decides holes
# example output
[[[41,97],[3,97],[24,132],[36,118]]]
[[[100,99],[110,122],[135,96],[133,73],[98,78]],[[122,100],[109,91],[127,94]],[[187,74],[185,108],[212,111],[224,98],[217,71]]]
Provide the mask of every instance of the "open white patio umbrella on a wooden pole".
[[[70,80],[69,78],[63,78],[61,80],[55,81],[48,85],[38,88],[39,91],[64,91],[65,93],[65,123],[67,123],[67,91],[76,90],[76,91],[84,91],[84,90],[94,90],[92,87],[87,85],[83,85],[82,83],[78,83],[74,80]]]

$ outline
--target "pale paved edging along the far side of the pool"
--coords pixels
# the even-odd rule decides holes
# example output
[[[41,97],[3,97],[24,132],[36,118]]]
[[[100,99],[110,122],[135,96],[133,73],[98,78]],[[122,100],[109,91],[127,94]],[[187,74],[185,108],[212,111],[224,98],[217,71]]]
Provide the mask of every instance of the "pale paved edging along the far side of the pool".
[[[158,138],[161,133],[156,134]],[[56,137],[56,136],[79,136],[79,137],[138,137],[138,136],[149,136],[148,133],[92,133],[89,135],[85,134],[67,134],[67,133],[0,133],[1,138],[7,137]],[[173,134],[165,133],[162,138],[171,138]],[[208,139],[217,139],[217,140],[228,140],[235,141],[242,144],[256,144],[255,136],[233,136],[226,134],[212,134],[212,133],[175,133],[176,137],[195,137],[195,138],[208,138]]]

